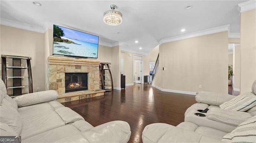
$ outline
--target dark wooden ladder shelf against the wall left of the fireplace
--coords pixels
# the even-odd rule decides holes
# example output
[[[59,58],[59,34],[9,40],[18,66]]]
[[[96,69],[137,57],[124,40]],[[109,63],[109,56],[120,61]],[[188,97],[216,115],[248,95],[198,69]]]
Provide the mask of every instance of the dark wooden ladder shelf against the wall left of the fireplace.
[[[32,72],[31,72],[31,57],[22,56],[11,56],[11,55],[1,55],[2,58],[2,80],[7,89],[12,89],[13,94],[9,95],[11,97],[16,97],[22,94],[22,88],[28,88],[29,93],[33,92],[32,86]],[[12,60],[12,66],[6,67],[6,59]],[[22,60],[26,60],[27,67],[22,67]],[[7,69],[12,69],[12,75],[7,76]],[[22,70],[28,69],[28,76],[22,76]],[[22,85],[22,79],[28,78],[28,85]],[[12,79],[12,86],[7,86],[7,80]]]

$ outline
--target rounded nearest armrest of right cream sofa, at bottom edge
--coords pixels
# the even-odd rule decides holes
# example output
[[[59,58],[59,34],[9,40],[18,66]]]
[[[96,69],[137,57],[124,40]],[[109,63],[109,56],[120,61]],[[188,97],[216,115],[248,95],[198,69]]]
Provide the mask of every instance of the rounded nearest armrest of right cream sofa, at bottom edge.
[[[152,123],[142,132],[143,143],[223,143],[194,131],[188,131],[166,123]]]

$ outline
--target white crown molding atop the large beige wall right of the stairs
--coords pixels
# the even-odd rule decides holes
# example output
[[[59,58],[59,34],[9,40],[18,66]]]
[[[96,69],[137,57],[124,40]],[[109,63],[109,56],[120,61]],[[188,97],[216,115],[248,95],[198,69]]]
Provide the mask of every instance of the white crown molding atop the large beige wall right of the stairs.
[[[192,38],[192,37],[209,35],[209,34],[219,33],[219,32],[223,32],[223,31],[229,31],[229,26],[230,25],[228,24],[228,25],[223,25],[223,26],[214,27],[214,28],[210,28],[210,29],[204,29],[204,30],[200,30],[200,31],[196,31],[196,32],[192,32],[192,33],[188,33],[188,34],[184,34],[184,35],[165,38],[159,42],[159,45],[161,45],[162,43],[168,43],[168,42],[178,41],[178,40],[182,40],[182,39],[188,39],[188,38]]]

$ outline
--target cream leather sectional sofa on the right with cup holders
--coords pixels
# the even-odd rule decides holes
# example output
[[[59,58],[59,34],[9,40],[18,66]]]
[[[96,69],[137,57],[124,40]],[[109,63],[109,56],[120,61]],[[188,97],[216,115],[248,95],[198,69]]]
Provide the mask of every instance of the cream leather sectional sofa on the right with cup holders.
[[[252,85],[252,93],[256,94],[256,80]],[[256,95],[255,95],[256,96]],[[232,142],[232,140],[222,138],[238,130],[246,124],[246,129],[238,132],[250,131],[250,141],[239,140],[238,142],[256,143],[256,106],[246,112],[220,109],[220,105],[236,96],[228,94],[218,94],[214,92],[199,92],[196,95],[198,103],[192,105],[185,112],[184,122],[172,126],[166,123],[153,123],[147,125],[142,132],[143,143],[219,143]],[[207,113],[201,113],[204,117],[196,116],[200,113],[197,110],[208,108]],[[250,124],[247,123],[251,121]],[[239,133],[236,132],[236,135]],[[231,134],[230,133],[230,134]],[[238,135],[239,136],[239,135]],[[242,137],[242,135],[241,135]],[[248,137],[247,137],[248,138]],[[244,137],[246,139],[246,137]],[[236,141],[235,141],[236,142]]]

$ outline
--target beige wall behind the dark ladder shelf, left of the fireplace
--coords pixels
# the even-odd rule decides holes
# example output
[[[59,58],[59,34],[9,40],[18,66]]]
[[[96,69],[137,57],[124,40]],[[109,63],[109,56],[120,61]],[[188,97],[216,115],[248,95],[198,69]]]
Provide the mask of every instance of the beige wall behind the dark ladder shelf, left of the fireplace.
[[[44,34],[0,25],[0,51],[3,55],[32,57],[33,90],[45,90],[46,60]]]

